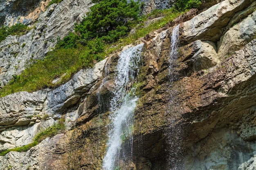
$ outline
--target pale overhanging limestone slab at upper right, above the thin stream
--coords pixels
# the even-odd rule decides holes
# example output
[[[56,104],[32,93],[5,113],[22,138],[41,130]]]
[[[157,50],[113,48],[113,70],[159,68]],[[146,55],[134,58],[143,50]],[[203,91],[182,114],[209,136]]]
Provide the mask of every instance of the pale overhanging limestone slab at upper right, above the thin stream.
[[[250,0],[225,0],[181,24],[182,41],[216,42],[222,36],[231,17],[251,4]],[[224,28],[224,29],[223,29]]]

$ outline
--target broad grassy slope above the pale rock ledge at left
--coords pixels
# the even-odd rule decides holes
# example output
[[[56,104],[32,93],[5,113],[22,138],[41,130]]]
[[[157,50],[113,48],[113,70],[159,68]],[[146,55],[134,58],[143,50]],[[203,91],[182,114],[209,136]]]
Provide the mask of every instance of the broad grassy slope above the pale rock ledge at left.
[[[81,68],[91,67],[93,63],[102,60],[106,55],[104,49],[104,44],[97,45],[97,42],[90,41],[88,46],[80,46],[77,49],[56,49],[49,52],[44,60],[32,59],[24,72],[13,76],[9,84],[0,90],[0,96],[20,91],[33,92],[65,83]],[[64,73],[66,74],[62,81],[52,84],[55,78]]]

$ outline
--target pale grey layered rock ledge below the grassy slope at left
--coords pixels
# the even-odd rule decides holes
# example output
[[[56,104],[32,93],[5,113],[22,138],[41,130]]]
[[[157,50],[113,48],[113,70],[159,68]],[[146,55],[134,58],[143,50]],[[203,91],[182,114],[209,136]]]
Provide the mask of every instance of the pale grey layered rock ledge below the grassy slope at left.
[[[82,69],[66,84],[33,93],[19,92],[0,98],[0,150],[24,146],[35,135],[67,113],[67,126],[74,126],[79,100],[99,81],[106,60]],[[72,107],[74,107],[72,109]],[[68,110],[68,108],[71,108]],[[55,119],[55,120],[54,120]]]

